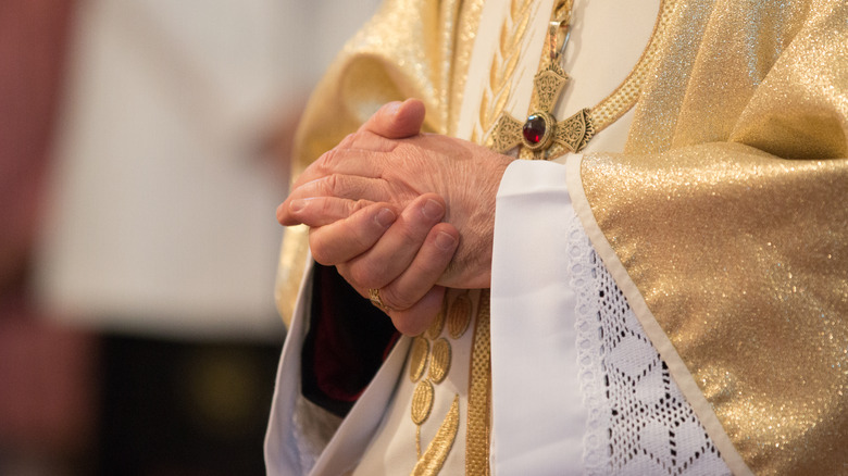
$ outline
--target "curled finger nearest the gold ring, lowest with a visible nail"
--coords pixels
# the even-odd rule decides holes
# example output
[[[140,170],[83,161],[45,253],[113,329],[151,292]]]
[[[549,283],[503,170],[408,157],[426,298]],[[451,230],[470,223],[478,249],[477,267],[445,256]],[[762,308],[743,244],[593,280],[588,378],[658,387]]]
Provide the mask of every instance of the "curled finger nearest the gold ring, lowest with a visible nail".
[[[459,231],[439,223],[427,235],[410,266],[397,279],[381,288],[383,302],[391,309],[409,309],[436,285],[459,245]]]

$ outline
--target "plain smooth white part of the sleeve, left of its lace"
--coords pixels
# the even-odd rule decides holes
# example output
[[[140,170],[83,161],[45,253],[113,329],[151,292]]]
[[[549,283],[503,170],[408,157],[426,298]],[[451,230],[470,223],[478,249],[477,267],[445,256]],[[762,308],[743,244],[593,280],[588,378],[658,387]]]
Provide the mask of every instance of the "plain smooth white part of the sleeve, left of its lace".
[[[491,268],[497,476],[583,472],[586,411],[565,236],[573,213],[564,165],[515,161],[507,168],[497,197]]]

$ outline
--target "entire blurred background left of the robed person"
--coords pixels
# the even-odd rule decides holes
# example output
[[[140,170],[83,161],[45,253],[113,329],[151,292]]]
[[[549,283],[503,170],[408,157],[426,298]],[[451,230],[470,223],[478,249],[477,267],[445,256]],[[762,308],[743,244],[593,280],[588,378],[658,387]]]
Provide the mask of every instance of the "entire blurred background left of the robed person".
[[[0,1],[0,475],[261,475],[291,136],[377,0]]]

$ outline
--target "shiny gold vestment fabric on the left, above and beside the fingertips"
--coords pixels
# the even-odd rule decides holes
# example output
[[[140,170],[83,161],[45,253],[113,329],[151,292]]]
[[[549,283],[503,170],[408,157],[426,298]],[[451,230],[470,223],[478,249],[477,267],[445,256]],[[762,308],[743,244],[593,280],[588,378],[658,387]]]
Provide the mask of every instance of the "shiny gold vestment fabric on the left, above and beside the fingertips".
[[[424,129],[456,130],[483,0],[387,0],[345,46],[310,97],[291,156],[300,173],[386,102],[419,98]],[[304,226],[286,229],[275,300],[288,324],[307,256]]]

